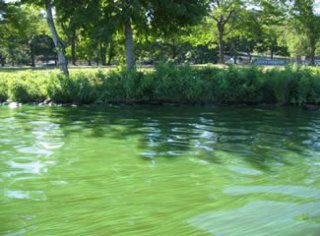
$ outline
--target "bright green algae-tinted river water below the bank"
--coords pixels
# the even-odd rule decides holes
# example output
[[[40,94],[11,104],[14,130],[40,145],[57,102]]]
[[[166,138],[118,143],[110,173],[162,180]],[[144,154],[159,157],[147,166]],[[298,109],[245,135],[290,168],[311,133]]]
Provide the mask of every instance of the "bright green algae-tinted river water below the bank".
[[[320,113],[0,107],[0,235],[320,235]]]

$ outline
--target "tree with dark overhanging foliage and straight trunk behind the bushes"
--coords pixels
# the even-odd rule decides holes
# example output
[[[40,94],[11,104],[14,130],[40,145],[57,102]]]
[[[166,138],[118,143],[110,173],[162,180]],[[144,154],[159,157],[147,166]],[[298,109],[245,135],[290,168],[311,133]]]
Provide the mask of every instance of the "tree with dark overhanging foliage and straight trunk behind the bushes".
[[[103,4],[107,22],[124,33],[126,65],[135,67],[134,31],[169,34],[189,24],[195,24],[206,12],[204,0],[112,0]]]

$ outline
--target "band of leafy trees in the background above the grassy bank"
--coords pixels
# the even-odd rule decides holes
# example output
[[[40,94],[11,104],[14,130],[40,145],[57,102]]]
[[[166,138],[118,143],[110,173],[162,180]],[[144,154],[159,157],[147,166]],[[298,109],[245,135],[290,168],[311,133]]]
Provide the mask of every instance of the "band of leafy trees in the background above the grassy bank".
[[[267,55],[314,65],[319,10],[315,0],[0,0],[0,62],[55,61],[66,75],[67,61],[133,69]]]

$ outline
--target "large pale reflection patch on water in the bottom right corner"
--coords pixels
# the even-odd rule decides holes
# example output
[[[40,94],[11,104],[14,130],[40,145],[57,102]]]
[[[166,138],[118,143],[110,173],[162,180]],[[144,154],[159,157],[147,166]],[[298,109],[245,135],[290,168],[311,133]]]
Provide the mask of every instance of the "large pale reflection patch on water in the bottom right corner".
[[[214,211],[189,222],[216,236],[319,235],[320,202],[253,201],[236,210]]]

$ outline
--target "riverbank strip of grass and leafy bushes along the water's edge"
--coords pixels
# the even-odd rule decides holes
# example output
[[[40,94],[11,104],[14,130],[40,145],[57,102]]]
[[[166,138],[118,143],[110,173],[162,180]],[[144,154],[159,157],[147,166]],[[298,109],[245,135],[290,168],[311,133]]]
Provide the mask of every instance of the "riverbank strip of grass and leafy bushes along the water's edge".
[[[194,68],[0,73],[0,101],[56,104],[320,104],[320,69]]]

